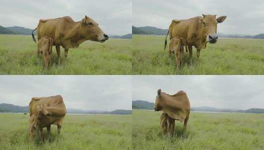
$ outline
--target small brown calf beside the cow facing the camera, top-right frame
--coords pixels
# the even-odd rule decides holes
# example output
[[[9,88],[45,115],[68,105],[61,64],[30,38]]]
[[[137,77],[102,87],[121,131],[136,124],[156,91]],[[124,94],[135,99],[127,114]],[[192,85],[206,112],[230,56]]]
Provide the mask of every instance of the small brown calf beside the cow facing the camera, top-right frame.
[[[188,52],[187,41],[184,38],[175,37],[170,40],[169,54],[173,53],[175,55],[177,68],[183,63],[184,46],[186,52]]]

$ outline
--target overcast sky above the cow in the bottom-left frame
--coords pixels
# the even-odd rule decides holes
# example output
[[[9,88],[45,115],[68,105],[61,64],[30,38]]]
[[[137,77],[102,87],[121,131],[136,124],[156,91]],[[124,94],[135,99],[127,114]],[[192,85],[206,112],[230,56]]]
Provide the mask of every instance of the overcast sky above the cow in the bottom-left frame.
[[[0,103],[28,106],[32,97],[62,95],[67,108],[131,110],[130,75],[0,75]]]

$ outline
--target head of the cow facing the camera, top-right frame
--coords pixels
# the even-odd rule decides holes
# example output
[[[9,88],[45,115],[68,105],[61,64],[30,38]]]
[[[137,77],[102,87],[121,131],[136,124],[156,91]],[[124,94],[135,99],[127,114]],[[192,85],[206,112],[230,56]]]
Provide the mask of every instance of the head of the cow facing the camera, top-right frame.
[[[205,43],[216,43],[217,36],[217,24],[224,22],[226,16],[221,16],[216,18],[216,15],[204,15],[203,14],[203,23],[202,23],[202,34],[205,39]]]

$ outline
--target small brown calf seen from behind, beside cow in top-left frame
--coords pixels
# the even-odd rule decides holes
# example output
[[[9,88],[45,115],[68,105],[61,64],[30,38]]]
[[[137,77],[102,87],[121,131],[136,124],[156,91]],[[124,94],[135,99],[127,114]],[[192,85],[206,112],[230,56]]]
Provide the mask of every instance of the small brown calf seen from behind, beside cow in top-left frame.
[[[52,46],[53,46],[52,38],[43,37],[38,40],[37,55],[39,56],[39,52],[43,55],[44,66],[46,68],[48,67],[48,65],[51,65]]]

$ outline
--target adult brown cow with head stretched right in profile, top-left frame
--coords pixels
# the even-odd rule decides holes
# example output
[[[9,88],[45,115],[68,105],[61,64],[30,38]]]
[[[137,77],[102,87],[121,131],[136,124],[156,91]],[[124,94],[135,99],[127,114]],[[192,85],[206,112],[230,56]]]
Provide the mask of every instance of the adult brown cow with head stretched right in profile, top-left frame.
[[[37,30],[38,29],[38,30]],[[37,30],[38,40],[42,37],[53,38],[60,63],[60,46],[65,49],[65,57],[69,48],[77,48],[85,40],[104,42],[109,37],[99,28],[92,18],[85,16],[81,21],[75,22],[71,17],[39,20]],[[36,42],[32,31],[32,37]]]

